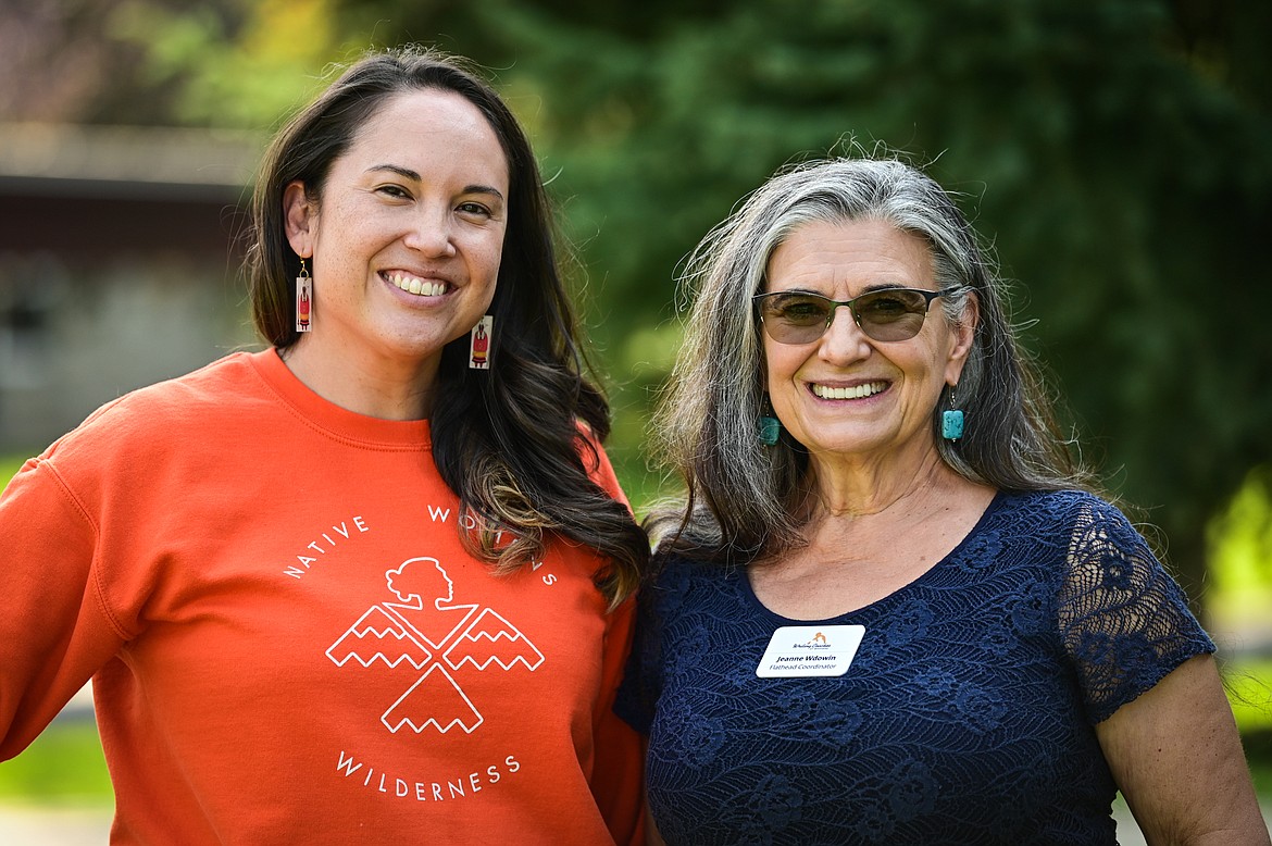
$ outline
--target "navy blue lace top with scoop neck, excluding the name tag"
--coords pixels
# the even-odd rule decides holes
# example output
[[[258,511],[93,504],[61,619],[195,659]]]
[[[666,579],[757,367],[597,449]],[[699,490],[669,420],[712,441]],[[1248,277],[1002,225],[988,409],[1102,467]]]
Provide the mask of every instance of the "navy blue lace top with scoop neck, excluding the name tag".
[[[743,571],[672,557],[616,705],[668,843],[1114,843],[1093,726],[1215,646],[1112,505],[1000,494],[917,580],[824,625],[840,677],[758,678]]]

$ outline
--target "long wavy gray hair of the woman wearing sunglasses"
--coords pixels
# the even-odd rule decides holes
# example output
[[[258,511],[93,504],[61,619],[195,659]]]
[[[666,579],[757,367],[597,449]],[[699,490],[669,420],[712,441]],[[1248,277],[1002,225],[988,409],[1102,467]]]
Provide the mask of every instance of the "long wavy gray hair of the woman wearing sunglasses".
[[[941,298],[946,321],[959,321],[977,299],[978,324],[954,398],[967,433],[959,441],[936,438],[941,459],[1002,490],[1090,487],[1016,342],[1005,282],[950,195],[897,159],[818,160],[773,176],[686,261],[681,281],[693,305],[653,434],[687,499],[651,514],[647,528],[661,551],[744,565],[800,542],[808,452],[785,431],[773,447],[757,438],[764,360],[752,296],[763,291],[768,260],[791,233],[854,220],[884,221],[929,244],[939,288],[964,288]],[[949,407],[946,389],[932,415],[936,433]]]

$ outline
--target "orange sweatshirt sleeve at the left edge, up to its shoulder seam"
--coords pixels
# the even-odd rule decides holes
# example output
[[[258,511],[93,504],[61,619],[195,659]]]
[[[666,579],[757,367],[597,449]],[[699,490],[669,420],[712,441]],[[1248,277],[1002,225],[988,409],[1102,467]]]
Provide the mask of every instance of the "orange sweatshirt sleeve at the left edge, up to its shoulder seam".
[[[22,752],[123,642],[97,584],[98,532],[47,459],[0,495],[0,761]]]

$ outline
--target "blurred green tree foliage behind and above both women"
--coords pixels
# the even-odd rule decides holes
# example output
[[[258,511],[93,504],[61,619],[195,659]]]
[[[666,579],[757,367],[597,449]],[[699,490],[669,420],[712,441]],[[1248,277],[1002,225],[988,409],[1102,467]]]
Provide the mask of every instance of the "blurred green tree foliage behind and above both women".
[[[491,69],[565,211],[637,499],[656,483],[641,430],[675,351],[681,258],[776,168],[847,141],[911,154],[962,193],[1089,455],[1146,506],[1194,594],[1206,522],[1272,458],[1268,4],[108,5],[181,122],[272,123],[326,61],[373,43]]]

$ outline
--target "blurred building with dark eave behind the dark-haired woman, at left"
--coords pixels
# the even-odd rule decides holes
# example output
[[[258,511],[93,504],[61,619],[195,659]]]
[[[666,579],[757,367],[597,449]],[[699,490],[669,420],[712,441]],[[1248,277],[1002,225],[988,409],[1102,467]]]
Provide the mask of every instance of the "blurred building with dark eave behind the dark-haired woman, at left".
[[[239,240],[262,145],[0,123],[0,453],[252,343]]]

